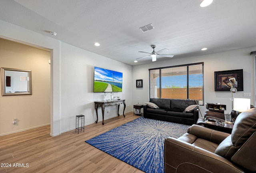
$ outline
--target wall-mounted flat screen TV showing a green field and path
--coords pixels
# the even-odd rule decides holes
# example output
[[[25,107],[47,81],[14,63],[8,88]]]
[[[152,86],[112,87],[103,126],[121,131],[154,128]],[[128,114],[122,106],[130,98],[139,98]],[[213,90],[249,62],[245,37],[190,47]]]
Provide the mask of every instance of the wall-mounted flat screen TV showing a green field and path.
[[[94,92],[122,92],[123,73],[94,67]]]

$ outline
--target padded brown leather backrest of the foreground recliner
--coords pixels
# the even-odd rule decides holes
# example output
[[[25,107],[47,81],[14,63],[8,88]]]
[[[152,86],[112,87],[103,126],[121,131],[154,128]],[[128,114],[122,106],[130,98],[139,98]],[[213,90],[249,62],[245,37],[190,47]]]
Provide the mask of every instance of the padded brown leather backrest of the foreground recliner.
[[[240,147],[256,131],[256,108],[249,109],[238,115],[232,133],[216,148],[215,153],[231,159]]]

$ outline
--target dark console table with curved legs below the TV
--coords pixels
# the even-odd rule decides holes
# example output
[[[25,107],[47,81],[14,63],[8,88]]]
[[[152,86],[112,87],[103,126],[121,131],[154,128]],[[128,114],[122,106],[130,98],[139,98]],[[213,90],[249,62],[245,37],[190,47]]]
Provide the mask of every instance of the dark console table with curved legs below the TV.
[[[106,106],[118,106],[118,111],[117,114],[119,115],[119,107],[120,104],[124,104],[124,110],[126,107],[126,103],[124,99],[115,99],[115,100],[110,100],[110,101],[94,101],[94,106],[95,106],[95,111],[96,111],[96,115],[97,115],[97,120],[95,121],[95,123],[98,123],[98,107],[101,107],[101,111],[102,111],[102,125],[104,125],[104,110]],[[123,111],[123,115],[124,115],[124,111]],[[125,117],[125,115],[124,115]]]

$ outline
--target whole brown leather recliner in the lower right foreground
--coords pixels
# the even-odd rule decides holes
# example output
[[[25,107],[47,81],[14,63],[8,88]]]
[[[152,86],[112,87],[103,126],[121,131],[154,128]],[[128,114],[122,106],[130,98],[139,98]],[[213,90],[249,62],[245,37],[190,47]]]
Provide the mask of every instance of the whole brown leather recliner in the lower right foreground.
[[[164,142],[165,173],[256,173],[256,108],[238,115],[231,135],[192,125]]]

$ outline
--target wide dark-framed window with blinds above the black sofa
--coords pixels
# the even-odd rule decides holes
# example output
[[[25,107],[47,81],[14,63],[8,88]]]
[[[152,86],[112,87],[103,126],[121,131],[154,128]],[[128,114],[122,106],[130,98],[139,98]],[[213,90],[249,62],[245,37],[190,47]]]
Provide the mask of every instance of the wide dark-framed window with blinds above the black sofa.
[[[149,69],[150,98],[196,99],[204,105],[204,63]]]

